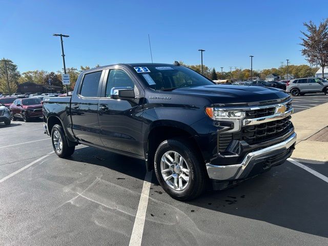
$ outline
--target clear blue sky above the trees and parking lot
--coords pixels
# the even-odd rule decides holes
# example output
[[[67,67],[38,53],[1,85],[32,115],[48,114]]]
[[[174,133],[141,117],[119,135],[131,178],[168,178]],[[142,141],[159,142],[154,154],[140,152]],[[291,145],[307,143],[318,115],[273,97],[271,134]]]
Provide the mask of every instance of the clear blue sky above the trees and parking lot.
[[[303,22],[319,23],[327,1],[3,1],[0,0],[0,57],[18,70],[62,67],[59,37],[65,38],[66,66],[150,62],[279,67],[305,64],[299,37]]]

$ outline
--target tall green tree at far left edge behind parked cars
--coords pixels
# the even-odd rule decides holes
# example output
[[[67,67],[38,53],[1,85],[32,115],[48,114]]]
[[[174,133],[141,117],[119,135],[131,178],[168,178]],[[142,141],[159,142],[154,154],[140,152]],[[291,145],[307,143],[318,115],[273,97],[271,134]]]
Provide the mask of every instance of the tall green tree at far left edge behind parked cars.
[[[20,77],[20,73],[17,70],[17,65],[14,64],[12,60],[6,58],[3,58],[3,60],[7,60],[6,65],[8,71],[10,93],[15,93],[17,91],[18,78]],[[0,92],[6,94],[9,93],[4,61],[0,61]]]

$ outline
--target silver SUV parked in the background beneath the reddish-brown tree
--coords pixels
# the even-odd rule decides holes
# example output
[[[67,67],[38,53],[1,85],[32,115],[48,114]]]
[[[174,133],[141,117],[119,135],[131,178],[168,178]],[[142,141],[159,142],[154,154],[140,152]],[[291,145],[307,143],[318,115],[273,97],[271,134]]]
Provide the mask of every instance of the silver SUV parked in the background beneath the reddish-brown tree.
[[[287,84],[286,92],[293,96],[305,93],[324,92],[328,95],[328,81],[322,78],[296,78]]]

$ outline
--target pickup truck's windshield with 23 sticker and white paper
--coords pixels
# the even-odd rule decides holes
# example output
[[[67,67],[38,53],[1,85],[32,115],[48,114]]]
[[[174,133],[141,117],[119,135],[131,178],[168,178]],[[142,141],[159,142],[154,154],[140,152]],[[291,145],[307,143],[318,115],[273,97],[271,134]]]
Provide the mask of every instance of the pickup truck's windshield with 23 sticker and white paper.
[[[134,67],[134,69],[149,87],[155,90],[170,91],[182,87],[214,84],[211,80],[183,66],[147,65],[147,67]]]

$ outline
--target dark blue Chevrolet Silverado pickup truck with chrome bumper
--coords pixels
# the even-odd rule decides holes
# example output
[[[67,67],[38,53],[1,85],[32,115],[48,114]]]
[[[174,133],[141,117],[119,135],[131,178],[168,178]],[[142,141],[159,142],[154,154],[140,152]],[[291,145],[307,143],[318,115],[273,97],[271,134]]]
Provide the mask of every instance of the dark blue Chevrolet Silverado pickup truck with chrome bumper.
[[[187,200],[290,157],[291,101],[276,88],[215,85],[177,62],[117,64],[82,72],[71,97],[45,98],[44,127],[59,157],[84,144],[143,159]]]

